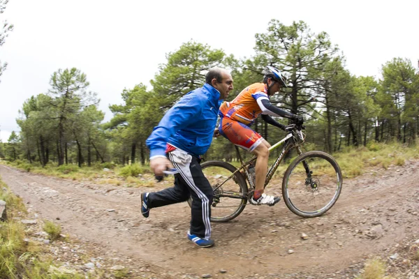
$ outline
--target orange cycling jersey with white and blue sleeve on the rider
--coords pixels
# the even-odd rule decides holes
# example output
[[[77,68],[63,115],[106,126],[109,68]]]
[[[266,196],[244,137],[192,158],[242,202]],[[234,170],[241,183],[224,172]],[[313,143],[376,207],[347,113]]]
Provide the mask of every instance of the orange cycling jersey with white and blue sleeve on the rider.
[[[269,100],[266,85],[263,83],[251,84],[231,102],[223,102],[219,114],[249,126],[262,112],[257,103],[258,99]]]

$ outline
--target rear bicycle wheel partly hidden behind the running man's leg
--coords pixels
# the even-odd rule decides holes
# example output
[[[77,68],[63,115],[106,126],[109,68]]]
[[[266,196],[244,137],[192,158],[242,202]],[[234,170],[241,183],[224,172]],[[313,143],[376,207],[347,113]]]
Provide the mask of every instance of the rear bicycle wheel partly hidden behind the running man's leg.
[[[201,165],[205,177],[214,189],[211,221],[228,222],[242,213],[247,204],[247,183],[237,169],[226,162],[207,161]],[[230,177],[231,176],[231,177]],[[188,200],[191,206],[191,198]]]

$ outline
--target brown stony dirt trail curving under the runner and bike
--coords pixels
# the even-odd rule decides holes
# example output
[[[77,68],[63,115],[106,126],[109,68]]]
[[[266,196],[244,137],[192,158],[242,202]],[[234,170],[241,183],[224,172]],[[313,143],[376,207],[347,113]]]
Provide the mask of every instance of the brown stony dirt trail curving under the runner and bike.
[[[406,161],[403,167],[372,169],[344,180],[337,204],[319,218],[295,216],[284,202],[247,205],[230,223],[212,225],[216,246],[210,249],[186,240],[186,203],[152,209],[148,219],[142,218],[140,193],[168,184],[152,189],[103,186],[4,165],[0,175],[42,218],[59,223],[87,246],[103,248],[105,256],[130,258],[159,272],[159,278],[348,278],[367,255],[418,234],[418,167],[419,162]],[[280,183],[270,189],[281,193]]]

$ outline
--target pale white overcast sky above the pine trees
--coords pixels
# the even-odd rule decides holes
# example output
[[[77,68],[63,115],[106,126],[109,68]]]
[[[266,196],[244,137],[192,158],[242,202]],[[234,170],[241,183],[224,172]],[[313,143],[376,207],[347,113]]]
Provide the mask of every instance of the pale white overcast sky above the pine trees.
[[[263,6],[265,5],[265,6]],[[75,67],[108,105],[124,88],[149,85],[166,53],[194,40],[237,58],[254,54],[254,35],[275,18],[325,31],[354,75],[379,75],[394,57],[419,59],[419,1],[375,0],[10,0],[0,22],[15,30],[0,47],[0,139],[7,142],[25,100],[50,88],[52,73]],[[234,78],[234,77],[233,77]]]

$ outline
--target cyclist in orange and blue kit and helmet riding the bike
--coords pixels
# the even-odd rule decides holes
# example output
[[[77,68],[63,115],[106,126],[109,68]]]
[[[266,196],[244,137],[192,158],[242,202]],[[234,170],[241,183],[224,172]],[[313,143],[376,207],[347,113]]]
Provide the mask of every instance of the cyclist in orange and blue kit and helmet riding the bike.
[[[277,68],[266,66],[263,83],[247,86],[234,100],[223,102],[219,110],[221,120],[218,132],[233,144],[257,156],[255,166],[256,188],[253,197],[249,199],[249,202],[254,205],[267,204],[273,206],[281,198],[263,193],[270,144],[249,126],[259,114],[262,114],[264,121],[283,130],[286,126],[272,119],[270,115],[286,117],[297,124],[303,123],[302,116],[288,113],[270,103],[270,96],[277,93],[281,86],[287,87],[284,75]]]

